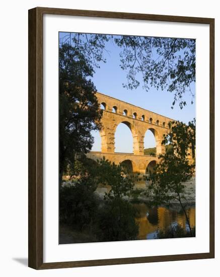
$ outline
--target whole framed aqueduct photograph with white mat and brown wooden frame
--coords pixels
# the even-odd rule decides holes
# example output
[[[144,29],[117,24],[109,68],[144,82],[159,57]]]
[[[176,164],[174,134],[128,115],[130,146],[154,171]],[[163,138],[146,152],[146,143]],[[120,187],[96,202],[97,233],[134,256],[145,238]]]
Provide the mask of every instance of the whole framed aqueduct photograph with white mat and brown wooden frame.
[[[214,258],[214,19],[29,10],[29,266]]]

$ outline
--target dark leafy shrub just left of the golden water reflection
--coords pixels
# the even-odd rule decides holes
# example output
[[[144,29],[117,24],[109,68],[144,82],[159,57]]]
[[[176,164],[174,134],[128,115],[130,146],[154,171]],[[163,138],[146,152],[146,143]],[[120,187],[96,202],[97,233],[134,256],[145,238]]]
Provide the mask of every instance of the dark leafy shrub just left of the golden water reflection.
[[[121,165],[101,160],[97,182],[111,186],[105,193],[104,206],[99,213],[99,234],[103,241],[136,239],[138,225],[135,222],[136,210],[126,199],[134,187],[134,176],[128,176]]]

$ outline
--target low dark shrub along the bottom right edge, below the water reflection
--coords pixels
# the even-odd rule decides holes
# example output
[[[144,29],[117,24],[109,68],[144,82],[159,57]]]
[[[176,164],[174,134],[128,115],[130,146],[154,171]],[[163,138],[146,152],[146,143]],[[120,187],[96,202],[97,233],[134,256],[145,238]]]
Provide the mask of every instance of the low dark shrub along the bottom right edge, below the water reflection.
[[[195,227],[192,228],[192,233],[186,231],[181,225],[170,226],[167,229],[159,229],[157,231],[156,239],[172,239],[172,238],[186,238],[195,237]]]

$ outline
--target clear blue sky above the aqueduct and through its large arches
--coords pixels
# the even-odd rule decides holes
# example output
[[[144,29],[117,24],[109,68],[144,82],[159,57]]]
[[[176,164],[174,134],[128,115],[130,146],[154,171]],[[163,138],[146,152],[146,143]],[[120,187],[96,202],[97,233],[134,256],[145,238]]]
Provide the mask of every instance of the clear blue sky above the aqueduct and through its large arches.
[[[66,33],[60,33],[60,38]],[[98,92],[126,101],[144,109],[165,115],[188,123],[195,117],[195,99],[191,104],[191,96],[186,93],[184,99],[187,105],[181,110],[178,103],[171,109],[174,94],[166,90],[156,90],[151,88],[146,92],[140,86],[135,90],[123,88],[122,83],[126,83],[126,72],[120,68],[120,49],[112,42],[106,43],[105,53],[106,63],[100,62],[100,68],[96,68],[96,73],[92,78]],[[192,84],[191,91],[195,94],[195,84]],[[101,137],[98,132],[93,132],[95,143],[93,151],[101,150]],[[146,132],[144,138],[144,148],[155,147],[155,138],[151,131]],[[129,128],[123,123],[119,124],[115,133],[115,152],[132,153],[132,135]]]

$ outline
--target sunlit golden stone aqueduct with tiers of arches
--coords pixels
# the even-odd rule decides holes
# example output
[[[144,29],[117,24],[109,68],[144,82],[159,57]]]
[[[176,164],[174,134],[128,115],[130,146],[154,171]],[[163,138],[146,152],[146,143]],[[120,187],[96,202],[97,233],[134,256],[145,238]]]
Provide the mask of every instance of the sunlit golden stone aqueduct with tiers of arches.
[[[130,162],[132,171],[145,173],[148,166],[158,161],[157,157],[143,155],[143,139],[149,129],[156,139],[157,155],[164,153],[165,146],[161,145],[163,134],[169,130],[168,122],[173,120],[166,116],[142,109],[116,98],[96,93],[100,105],[104,107],[101,131],[101,152],[91,151],[87,157],[93,160],[105,157],[115,164]],[[133,136],[133,153],[115,153],[115,131],[118,124],[124,123]],[[153,162],[154,161],[154,162]]]

